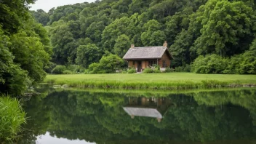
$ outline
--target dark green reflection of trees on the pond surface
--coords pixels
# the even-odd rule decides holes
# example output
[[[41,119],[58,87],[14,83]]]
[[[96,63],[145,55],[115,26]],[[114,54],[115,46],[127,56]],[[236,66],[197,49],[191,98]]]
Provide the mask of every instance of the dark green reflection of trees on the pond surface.
[[[51,135],[90,142],[131,140],[240,140],[256,136],[255,91],[199,92],[167,95],[174,103],[164,119],[131,119],[123,106],[124,94],[52,91],[47,97],[33,97],[25,103],[31,120],[27,128],[35,135]],[[152,141],[153,142],[153,141]]]

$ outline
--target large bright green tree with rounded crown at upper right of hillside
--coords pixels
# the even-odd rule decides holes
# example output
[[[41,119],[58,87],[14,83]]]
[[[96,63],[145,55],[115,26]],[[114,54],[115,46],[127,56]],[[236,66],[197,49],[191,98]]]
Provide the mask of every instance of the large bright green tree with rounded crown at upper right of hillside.
[[[244,52],[252,42],[255,20],[252,7],[242,1],[209,0],[202,15],[201,36],[196,40],[197,53],[231,56]]]

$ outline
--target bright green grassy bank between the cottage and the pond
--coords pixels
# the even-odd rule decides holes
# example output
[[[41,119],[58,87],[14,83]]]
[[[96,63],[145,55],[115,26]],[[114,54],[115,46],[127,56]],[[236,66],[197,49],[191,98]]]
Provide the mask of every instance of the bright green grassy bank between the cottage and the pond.
[[[193,89],[255,87],[256,75],[197,73],[113,73],[48,75],[44,82],[79,88]]]

